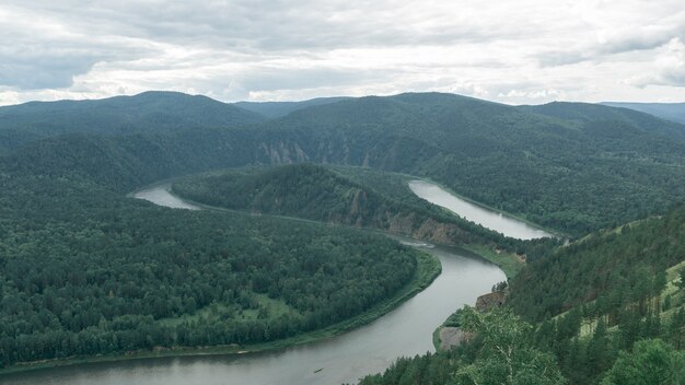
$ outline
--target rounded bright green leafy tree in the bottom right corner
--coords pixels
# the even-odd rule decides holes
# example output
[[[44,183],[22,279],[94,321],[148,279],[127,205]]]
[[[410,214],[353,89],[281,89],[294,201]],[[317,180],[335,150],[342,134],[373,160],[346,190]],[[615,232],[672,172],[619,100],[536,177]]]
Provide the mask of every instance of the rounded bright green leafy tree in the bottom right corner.
[[[685,352],[660,339],[640,340],[622,351],[602,385],[677,385],[685,381]]]

